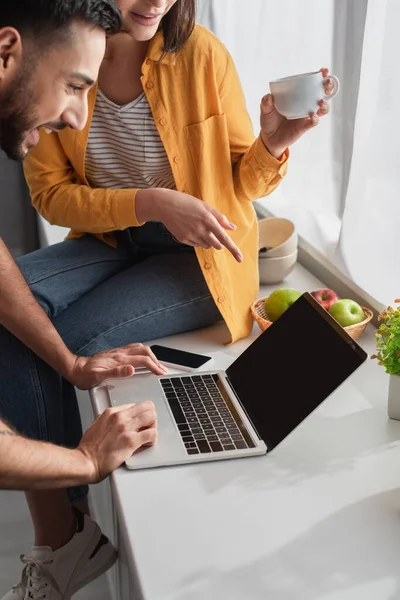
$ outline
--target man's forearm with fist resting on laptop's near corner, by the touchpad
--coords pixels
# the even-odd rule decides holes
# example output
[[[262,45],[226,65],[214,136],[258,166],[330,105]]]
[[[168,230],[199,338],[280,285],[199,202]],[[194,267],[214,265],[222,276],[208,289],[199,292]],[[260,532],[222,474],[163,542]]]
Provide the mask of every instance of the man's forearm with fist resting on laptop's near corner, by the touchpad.
[[[98,483],[157,438],[152,402],[107,409],[78,448],[26,439],[0,421],[0,489],[68,488]]]

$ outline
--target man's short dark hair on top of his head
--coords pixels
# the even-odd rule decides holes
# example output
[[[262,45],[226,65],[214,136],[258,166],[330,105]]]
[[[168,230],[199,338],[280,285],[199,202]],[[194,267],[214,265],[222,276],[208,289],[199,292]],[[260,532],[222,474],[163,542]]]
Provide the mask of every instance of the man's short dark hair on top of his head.
[[[62,41],[74,22],[118,33],[121,13],[114,0],[0,0],[0,28],[14,27],[39,45]]]

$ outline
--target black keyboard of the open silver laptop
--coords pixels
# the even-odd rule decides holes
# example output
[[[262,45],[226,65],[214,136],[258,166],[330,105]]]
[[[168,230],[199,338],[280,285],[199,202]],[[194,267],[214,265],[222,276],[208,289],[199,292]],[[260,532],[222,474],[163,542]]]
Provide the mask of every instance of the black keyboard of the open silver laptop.
[[[160,382],[188,454],[255,447],[218,375]]]

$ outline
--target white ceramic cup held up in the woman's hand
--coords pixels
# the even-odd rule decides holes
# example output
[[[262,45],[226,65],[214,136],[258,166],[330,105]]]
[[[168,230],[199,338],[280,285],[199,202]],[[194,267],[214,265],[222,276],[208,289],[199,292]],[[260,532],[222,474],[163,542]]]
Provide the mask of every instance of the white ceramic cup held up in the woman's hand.
[[[333,82],[330,96],[325,94],[324,81]],[[317,112],[320,100],[332,100],[340,91],[340,82],[335,75],[326,79],[322,73],[302,73],[271,81],[269,84],[277,111],[287,119],[302,119],[310,113]]]

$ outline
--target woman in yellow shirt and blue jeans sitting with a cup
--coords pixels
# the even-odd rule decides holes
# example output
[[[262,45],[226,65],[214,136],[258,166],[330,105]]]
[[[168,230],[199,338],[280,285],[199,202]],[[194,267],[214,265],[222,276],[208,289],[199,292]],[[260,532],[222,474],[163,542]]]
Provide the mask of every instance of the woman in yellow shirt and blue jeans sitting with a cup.
[[[321,101],[318,115],[286,121],[266,96],[255,140],[231,57],[194,26],[195,0],[118,3],[124,31],[109,40],[98,87],[89,93],[87,126],[43,135],[25,163],[35,207],[51,223],[70,227],[70,239],[19,265],[78,354],[221,318],[235,341],[251,330],[249,307],[258,290],[251,201],[276,188],[286,173],[287,147],[328,106]],[[86,92],[77,87],[75,93]],[[22,350],[10,340],[1,344],[24,377]],[[35,398],[30,379],[16,390],[7,372],[0,377],[10,402],[24,406]],[[74,390],[63,382],[54,394],[43,377],[44,411],[63,406],[53,421],[63,431],[61,443],[77,445]],[[20,419],[9,418],[23,429],[24,411]],[[74,489],[70,500],[82,507],[85,494]],[[49,520],[51,506],[40,502],[29,498],[45,545],[41,515],[45,510]],[[55,529],[53,523],[52,534],[60,539],[53,547],[65,543],[62,524]]]

